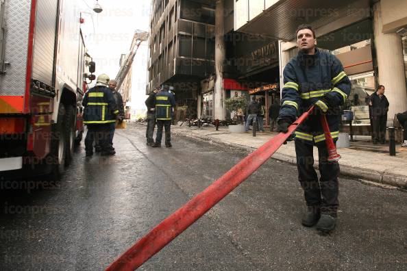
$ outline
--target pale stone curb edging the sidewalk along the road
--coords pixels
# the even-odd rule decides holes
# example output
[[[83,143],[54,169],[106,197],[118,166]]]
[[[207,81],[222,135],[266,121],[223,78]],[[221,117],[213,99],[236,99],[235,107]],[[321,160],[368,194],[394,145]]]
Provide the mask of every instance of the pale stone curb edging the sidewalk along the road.
[[[233,146],[238,149],[243,149],[245,151],[254,151],[256,148],[250,146],[243,146],[239,144],[223,142],[221,140],[211,138],[208,135],[195,135],[193,132],[188,131],[173,131],[175,135],[182,135],[187,138],[193,138],[195,140],[205,140],[210,143],[221,144],[226,146]],[[275,159],[281,162],[287,162],[289,164],[296,164],[296,158],[290,155],[283,155],[280,153],[274,153],[271,159]],[[314,168],[318,168],[318,165],[314,165]],[[352,166],[341,165],[341,176],[351,177],[356,179],[363,179],[367,181],[372,181],[374,183],[391,185],[395,188],[407,189],[407,177],[404,175],[395,175],[388,173],[386,171],[378,170],[368,170],[366,168],[356,168]]]

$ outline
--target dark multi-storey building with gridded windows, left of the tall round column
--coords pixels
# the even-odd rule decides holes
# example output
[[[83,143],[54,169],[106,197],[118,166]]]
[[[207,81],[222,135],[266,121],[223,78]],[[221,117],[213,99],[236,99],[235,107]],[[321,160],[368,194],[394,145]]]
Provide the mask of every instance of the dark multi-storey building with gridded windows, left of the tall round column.
[[[214,8],[210,0],[151,2],[147,93],[167,83],[195,116],[201,80],[214,73]]]

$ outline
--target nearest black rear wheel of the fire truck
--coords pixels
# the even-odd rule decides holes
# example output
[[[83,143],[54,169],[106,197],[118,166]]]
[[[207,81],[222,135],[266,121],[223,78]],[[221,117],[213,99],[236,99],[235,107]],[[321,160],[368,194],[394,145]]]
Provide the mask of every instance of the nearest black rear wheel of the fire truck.
[[[61,103],[58,109],[58,119],[52,129],[51,157],[52,171],[51,177],[58,179],[65,172],[66,161],[66,131],[65,131],[65,107]]]

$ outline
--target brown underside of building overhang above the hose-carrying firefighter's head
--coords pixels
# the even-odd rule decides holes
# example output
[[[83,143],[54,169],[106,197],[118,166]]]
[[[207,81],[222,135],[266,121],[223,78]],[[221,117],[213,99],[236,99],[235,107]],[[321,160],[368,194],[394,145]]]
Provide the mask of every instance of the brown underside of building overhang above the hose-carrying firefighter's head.
[[[288,41],[295,38],[295,30],[303,23],[319,29],[317,36],[321,36],[371,15],[369,0],[280,0],[274,2],[236,31]]]

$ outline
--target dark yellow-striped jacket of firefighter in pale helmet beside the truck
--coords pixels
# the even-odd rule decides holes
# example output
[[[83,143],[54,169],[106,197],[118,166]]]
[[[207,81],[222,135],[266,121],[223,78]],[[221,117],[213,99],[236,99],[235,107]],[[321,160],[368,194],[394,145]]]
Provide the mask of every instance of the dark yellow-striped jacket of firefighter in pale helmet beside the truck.
[[[85,93],[84,100],[84,123],[106,124],[116,122],[119,110],[116,107],[112,91],[103,86],[95,86]]]

